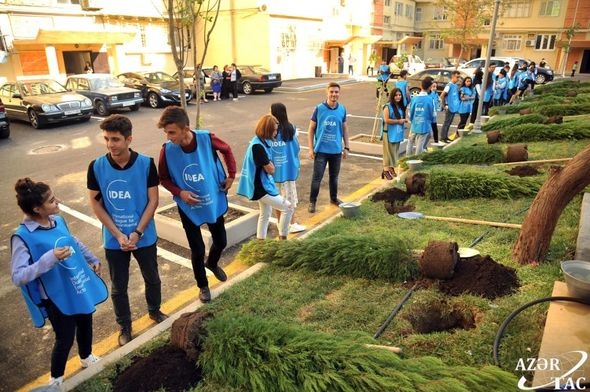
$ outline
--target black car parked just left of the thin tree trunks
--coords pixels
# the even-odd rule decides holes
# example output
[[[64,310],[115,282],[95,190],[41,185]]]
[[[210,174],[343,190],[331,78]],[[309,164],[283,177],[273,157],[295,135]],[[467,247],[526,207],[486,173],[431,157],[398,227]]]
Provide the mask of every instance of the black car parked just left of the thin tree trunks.
[[[178,80],[161,71],[125,72],[117,76],[125,86],[141,91],[142,97],[151,108],[180,103]],[[186,102],[193,99],[190,84],[185,84]]]

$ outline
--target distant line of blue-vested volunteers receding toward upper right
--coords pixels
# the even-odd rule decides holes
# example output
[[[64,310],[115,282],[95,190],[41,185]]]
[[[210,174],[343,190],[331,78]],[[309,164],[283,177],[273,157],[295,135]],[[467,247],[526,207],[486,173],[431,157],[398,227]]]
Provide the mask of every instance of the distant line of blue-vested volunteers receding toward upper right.
[[[528,89],[535,87],[537,66],[516,63],[495,72],[496,65],[490,64],[483,89],[484,72],[480,67],[475,69],[473,76],[464,79],[457,70],[451,72],[451,80],[445,85],[442,93],[437,92],[436,81],[427,76],[421,80],[421,91],[411,97],[408,87],[408,72],[402,70],[395,81],[395,88],[389,93],[388,102],[383,106],[383,171],[381,178],[393,180],[396,177],[395,165],[399,158],[400,143],[405,139],[405,126],[410,123],[406,156],[420,154],[427,150],[432,138],[435,143],[450,143],[460,136],[458,130],[465,129],[468,122],[475,123],[479,100],[482,100],[482,114],[487,115],[492,106],[512,104],[523,97]],[[385,61],[382,62],[377,76],[377,97],[388,93],[387,82],[390,70]],[[444,112],[442,128],[438,131],[437,113]],[[449,135],[455,116],[459,115],[457,132]]]

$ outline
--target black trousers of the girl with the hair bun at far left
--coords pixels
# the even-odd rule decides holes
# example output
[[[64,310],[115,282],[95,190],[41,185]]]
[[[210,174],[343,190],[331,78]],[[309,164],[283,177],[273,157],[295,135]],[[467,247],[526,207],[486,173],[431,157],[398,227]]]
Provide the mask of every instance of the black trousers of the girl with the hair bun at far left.
[[[51,377],[57,378],[64,375],[74,337],[78,343],[80,358],[88,358],[92,354],[92,313],[68,316],[48,299],[43,300],[42,304],[55,333],[55,343],[51,351]]]

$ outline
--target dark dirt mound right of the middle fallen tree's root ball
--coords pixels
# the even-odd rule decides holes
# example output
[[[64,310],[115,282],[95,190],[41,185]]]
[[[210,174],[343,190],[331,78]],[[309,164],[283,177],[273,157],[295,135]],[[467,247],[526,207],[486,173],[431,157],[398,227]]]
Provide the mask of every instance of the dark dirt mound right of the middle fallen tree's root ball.
[[[494,261],[490,256],[459,259],[452,279],[439,283],[449,295],[473,294],[494,299],[514,292],[520,284],[516,270]]]

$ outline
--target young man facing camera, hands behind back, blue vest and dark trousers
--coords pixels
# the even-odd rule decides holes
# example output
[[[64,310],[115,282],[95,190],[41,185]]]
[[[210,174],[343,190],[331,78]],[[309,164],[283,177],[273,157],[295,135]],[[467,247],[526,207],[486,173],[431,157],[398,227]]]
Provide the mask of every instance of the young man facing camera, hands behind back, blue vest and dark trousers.
[[[346,159],[350,152],[346,108],[338,103],[340,85],[336,82],[328,84],[326,95],[327,99],[315,107],[307,133],[309,158],[313,159],[313,177],[308,207],[308,211],[311,213],[316,210],[320,183],[324,177],[326,165],[329,166],[330,203],[334,205],[342,203],[338,199],[338,175],[342,159]]]

